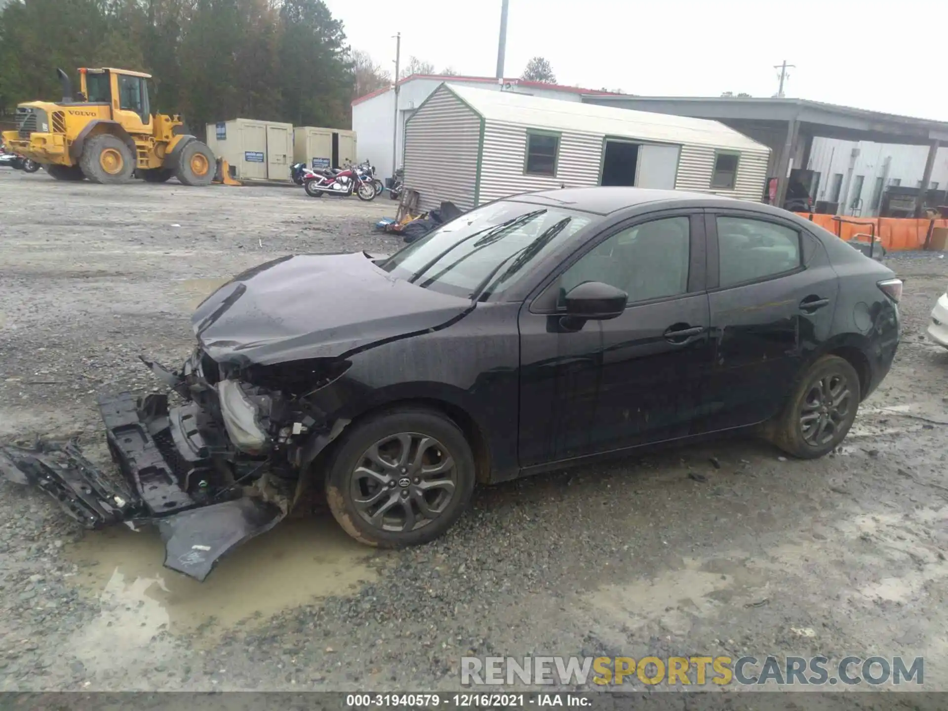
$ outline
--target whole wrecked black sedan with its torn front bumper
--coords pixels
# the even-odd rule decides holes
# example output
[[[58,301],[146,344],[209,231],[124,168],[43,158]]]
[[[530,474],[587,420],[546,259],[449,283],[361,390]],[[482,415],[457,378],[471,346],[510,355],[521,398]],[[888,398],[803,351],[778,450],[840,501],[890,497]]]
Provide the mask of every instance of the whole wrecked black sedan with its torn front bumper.
[[[102,398],[110,479],[4,447],[86,525],[157,524],[203,579],[322,483],[372,545],[424,543],[476,483],[754,428],[830,452],[899,343],[902,282],[790,212],[595,188],[490,203],[390,258],[287,256],[194,313],[175,392]]]

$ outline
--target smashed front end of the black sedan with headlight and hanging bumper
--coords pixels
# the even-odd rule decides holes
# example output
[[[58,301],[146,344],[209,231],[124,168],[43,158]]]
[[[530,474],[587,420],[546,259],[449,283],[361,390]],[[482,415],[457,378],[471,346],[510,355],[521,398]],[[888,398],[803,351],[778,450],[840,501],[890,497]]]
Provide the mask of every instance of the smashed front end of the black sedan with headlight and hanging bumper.
[[[171,392],[99,399],[120,477],[72,443],[47,442],[0,446],[0,475],[38,486],[86,528],[155,524],[165,565],[204,580],[221,556],[288,514],[314,441],[332,440],[309,396],[348,363],[218,363],[200,346],[180,371],[142,360]]]

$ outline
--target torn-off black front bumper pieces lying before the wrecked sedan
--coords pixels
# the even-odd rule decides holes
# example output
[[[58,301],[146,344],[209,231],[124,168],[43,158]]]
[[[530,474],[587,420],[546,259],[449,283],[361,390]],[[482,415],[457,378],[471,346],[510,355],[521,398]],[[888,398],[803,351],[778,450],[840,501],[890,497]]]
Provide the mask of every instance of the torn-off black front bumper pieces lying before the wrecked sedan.
[[[272,528],[286,505],[239,486],[228,471],[229,444],[195,402],[169,408],[165,395],[128,392],[99,400],[112,459],[109,477],[72,444],[0,447],[0,475],[46,491],[86,528],[154,523],[165,565],[204,580],[234,546]]]

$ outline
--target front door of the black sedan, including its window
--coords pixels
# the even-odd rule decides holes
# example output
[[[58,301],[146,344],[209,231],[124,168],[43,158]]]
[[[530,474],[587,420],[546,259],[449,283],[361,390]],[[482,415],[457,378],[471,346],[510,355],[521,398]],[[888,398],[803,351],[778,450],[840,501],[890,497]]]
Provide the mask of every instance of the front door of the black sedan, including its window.
[[[520,465],[687,435],[710,366],[700,211],[608,228],[520,309]],[[629,295],[625,311],[576,328],[562,299],[579,283]]]

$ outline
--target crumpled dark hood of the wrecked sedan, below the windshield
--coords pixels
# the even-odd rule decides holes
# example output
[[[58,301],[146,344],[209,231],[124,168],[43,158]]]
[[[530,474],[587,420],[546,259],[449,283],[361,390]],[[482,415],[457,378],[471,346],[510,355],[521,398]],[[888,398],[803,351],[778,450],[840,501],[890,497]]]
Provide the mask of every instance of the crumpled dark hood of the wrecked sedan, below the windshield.
[[[472,305],[396,279],[364,252],[303,254],[238,274],[201,302],[191,325],[214,360],[271,365],[424,332]]]

